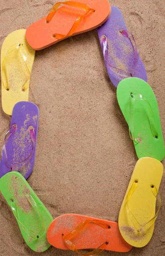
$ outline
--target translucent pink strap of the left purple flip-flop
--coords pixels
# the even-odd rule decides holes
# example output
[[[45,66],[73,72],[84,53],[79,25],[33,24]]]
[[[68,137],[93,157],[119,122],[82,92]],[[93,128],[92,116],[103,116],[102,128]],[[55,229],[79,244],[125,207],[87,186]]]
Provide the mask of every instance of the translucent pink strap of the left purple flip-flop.
[[[5,140],[4,140],[4,144],[3,144],[3,147],[2,147],[2,160],[3,160],[3,163],[6,165],[6,167],[11,170],[11,171],[19,171],[20,168],[22,166],[24,166],[28,160],[31,158],[31,156],[33,155],[34,153],[34,148],[35,148],[35,134],[34,134],[34,128],[33,127],[29,127],[29,133],[30,133],[30,136],[31,136],[31,141],[32,141],[32,144],[33,144],[33,148],[31,150],[31,153],[28,155],[28,157],[26,157],[23,161],[21,162],[18,162],[18,163],[14,163],[14,164],[11,164],[8,160],[8,157],[7,157],[7,152],[6,152],[6,142],[8,140],[8,138],[14,133],[14,131],[17,129],[17,124],[14,124],[11,126],[11,128],[9,129],[9,131],[6,133],[5,135]]]

